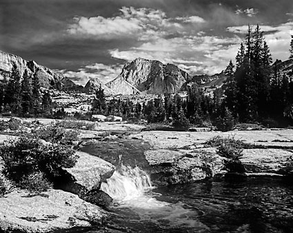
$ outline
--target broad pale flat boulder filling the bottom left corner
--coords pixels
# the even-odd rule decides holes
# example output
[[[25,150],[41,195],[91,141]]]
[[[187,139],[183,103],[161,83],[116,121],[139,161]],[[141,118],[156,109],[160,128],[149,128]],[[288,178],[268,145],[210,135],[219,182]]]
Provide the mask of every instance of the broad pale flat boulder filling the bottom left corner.
[[[106,212],[77,195],[49,190],[32,195],[14,191],[0,198],[0,231],[51,232],[101,223]]]

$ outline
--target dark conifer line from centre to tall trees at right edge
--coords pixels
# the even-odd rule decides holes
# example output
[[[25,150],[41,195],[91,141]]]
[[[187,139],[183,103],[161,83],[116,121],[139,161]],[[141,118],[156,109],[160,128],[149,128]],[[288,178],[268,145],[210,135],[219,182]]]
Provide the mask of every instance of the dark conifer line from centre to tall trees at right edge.
[[[293,59],[293,36],[290,59]],[[165,94],[147,103],[134,103],[130,99],[107,102],[100,87],[92,112],[146,119],[149,123],[172,123],[181,128],[212,124],[229,130],[237,122],[274,127],[293,123],[293,82],[282,74],[281,61],[272,64],[270,49],[259,26],[254,31],[248,27],[236,55],[236,65],[230,61],[225,75],[225,83],[212,94],[193,84],[188,85],[185,95]]]

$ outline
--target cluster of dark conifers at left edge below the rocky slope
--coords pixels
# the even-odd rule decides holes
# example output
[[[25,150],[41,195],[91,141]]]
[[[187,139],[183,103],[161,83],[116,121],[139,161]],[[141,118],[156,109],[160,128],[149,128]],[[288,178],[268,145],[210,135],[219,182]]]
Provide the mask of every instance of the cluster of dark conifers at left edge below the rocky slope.
[[[28,70],[21,74],[17,65],[12,71],[2,72],[0,81],[0,110],[11,112],[21,117],[33,117],[49,114],[52,110],[52,99],[48,90],[41,90],[39,77]]]

